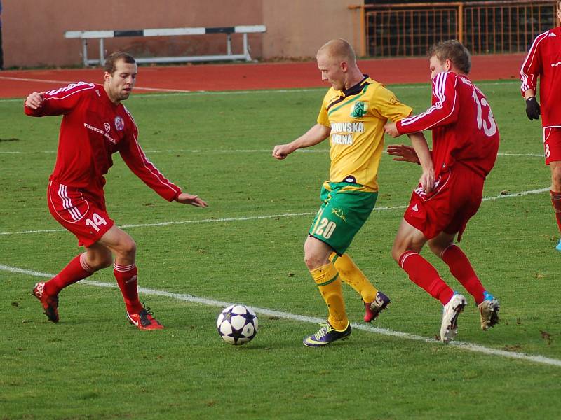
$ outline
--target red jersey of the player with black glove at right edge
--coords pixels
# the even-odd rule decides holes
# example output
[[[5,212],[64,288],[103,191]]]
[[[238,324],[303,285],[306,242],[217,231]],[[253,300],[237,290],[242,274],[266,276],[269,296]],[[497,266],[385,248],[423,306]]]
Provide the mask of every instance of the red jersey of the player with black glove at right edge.
[[[561,27],[550,29],[534,39],[520,69],[522,96],[536,91],[539,77],[539,102],[543,127],[561,127]]]

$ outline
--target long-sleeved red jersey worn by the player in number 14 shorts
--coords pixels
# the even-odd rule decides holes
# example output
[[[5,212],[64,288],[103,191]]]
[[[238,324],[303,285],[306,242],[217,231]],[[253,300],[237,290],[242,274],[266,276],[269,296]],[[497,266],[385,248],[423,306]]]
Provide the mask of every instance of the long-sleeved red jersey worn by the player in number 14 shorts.
[[[104,175],[118,151],[130,170],[165,200],[181,193],[144,155],[133,117],[123,104],[111,102],[102,85],[79,82],[45,92],[43,98],[39,109],[24,106],[24,111],[34,117],[63,115],[51,180],[102,197]]]

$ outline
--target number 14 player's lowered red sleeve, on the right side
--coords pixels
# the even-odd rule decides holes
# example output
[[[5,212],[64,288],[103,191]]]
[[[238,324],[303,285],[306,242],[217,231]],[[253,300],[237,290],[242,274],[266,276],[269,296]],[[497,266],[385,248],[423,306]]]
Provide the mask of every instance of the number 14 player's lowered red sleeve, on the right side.
[[[132,120],[132,118],[131,118]],[[121,157],[126,165],[133,173],[138,176],[142,181],[149,186],[152,190],[156,191],[165,200],[173,201],[181,194],[181,188],[169,181],[158,168],[152,164],[144,155],[144,151],[138,144],[138,129],[134,122],[130,134],[123,139],[123,147],[119,150]]]

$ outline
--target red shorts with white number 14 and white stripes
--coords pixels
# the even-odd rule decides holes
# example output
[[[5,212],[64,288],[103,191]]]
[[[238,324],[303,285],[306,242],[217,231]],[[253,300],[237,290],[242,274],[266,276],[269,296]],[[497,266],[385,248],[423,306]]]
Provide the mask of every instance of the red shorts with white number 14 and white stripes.
[[[103,197],[95,198],[80,188],[50,181],[47,190],[50,214],[78,238],[79,246],[91,246],[114,225]]]

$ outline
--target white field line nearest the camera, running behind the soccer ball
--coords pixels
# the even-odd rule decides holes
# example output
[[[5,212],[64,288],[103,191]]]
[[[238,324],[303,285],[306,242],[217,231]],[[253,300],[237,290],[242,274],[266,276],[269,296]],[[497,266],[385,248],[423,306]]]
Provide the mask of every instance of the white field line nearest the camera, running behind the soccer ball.
[[[18,267],[10,267],[8,265],[2,265],[2,264],[0,264],[0,270],[6,271],[6,272],[12,272],[12,273],[27,274],[29,276],[43,277],[45,279],[50,279],[50,278],[53,278],[55,276],[55,274],[36,272],[36,271],[33,271],[33,270],[29,270],[29,269],[21,269],[21,268],[18,268]],[[114,283],[103,283],[101,281],[82,280],[82,281],[80,281],[80,284],[86,285],[86,286],[103,287],[103,288],[117,288],[117,285],[114,284]],[[172,293],[172,292],[168,292],[168,291],[165,291],[165,290],[154,290],[154,289],[150,289],[150,288],[141,287],[141,288],[138,288],[138,291],[139,291],[139,293],[142,293],[144,295],[170,297],[172,299],[182,300],[184,302],[204,304],[204,305],[212,306],[212,307],[222,307],[222,308],[224,308],[224,307],[227,307],[230,304],[232,304],[232,302],[223,302],[221,300],[207,299],[205,297],[197,297],[197,296],[187,295],[187,294],[183,294],[183,293]],[[290,314],[290,312],[275,311],[273,309],[266,309],[266,308],[258,308],[258,307],[252,307],[252,308],[255,309],[257,314],[262,314],[264,316],[273,316],[273,317],[277,317],[277,318],[289,319],[290,321],[300,321],[300,322],[306,322],[306,323],[325,323],[325,319],[323,319],[323,318],[314,318],[312,316]],[[407,332],[387,330],[386,328],[377,328],[377,327],[372,327],[370,325],[364,325],[364,324],[358,324],[358,323],[353,323],[351,325],[352,325],[353,329],[363,330],[363,331],[370,332],[370,333],[373,333],[373,334],[388,335],[390,337],[396,337],[396,338],[400,338],[400,339],[408,339],[408,340],[419,341],[419,342],[426,342],[426,343],[431,343],[431,344],[438,343],[438,341],[433,339],[433,338],[423,337],[421,335],[409,334]],[[451,342],[448,345],[452,346],[452,347],[456,347],[458,349],[473,351],[475,353],[482,353],[482,354],[485,354],[485,355],[488,355],[488,356],[500,356],[500,357],[503,357],[503,358],[514,358],[514,359],[527,361],[527,362],[541,363],[543,365],[561,367],[561,360],[557,360],[557,359],[554,359],[554,358],[548,358],[548,357],[545,357],[545,356],[531,355],[531,354],[526,354],[526,353],[517,353],[515,351],[505,351],[505,350],[499,350],[499,349],[492,349],[492,348],[489,348],[489,347],[480,346],[479,344],[471,344],[471,343],[468,343],[468,342]]]

